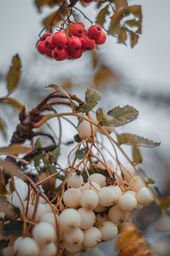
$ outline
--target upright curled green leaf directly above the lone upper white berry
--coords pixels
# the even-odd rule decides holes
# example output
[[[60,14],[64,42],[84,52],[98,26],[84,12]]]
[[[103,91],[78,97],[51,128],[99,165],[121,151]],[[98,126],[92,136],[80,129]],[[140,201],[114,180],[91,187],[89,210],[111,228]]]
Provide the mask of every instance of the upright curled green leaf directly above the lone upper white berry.
[[[85,95],[85,103],[82,105],[82,112],[87,113],[91,111],[101,98],[101,94],[94,89],[88,89]]]

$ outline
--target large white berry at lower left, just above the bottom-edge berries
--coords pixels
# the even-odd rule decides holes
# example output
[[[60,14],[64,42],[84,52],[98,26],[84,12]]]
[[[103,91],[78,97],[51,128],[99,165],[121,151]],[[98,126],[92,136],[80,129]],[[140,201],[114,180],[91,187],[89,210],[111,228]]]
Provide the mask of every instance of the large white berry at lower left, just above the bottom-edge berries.
[[[56,241],[56,231],[53,225],[47,222],[40,222],[32,229],[32,236],[39,244]]]

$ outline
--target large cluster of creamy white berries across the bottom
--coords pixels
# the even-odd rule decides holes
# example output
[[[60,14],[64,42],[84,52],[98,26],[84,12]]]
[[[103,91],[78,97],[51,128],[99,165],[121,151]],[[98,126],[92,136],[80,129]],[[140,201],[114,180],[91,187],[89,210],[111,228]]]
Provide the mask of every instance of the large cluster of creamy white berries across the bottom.
[[[144,179],[133,168],[122,168],[121,179],[128,185],[108,185],[103,174],[91,174],[86,183],[82,175],[69,174],[62,199],[65,210],[59,213],[54,207],[54,216],[49,204],[40,198],[31,237],[17,238],[14,246],[8,247],[9,254],[12,251],[15,256],[54,256],[62,255],[60,250],[73,256],[114,239],[117,225],[128,219],[133,210],[154,200]],[[31,202],[27,219],[32,219],[34,208]]]

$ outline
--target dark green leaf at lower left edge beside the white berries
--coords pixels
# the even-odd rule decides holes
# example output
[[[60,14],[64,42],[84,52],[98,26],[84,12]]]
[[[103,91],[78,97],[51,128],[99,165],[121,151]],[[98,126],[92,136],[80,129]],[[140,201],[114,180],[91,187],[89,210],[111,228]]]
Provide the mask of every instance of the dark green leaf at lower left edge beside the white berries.
[[[8,224],[3,225],[3,236],[21,236],[23,230],[22,221],[10,221]]]

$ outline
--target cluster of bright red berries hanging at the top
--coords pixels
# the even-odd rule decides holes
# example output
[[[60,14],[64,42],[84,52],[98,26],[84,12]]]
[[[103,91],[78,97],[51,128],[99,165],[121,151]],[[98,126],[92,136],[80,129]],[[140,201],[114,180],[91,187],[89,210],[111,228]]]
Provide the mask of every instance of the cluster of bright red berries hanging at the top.
[[[37,41],[37,50],[55,60],[78,59],[82,53],[93,50],[95,44],[105,43],[105,32],[94,25],[85,30],[82,22],[77,22],[66,31],[46,33]]]

